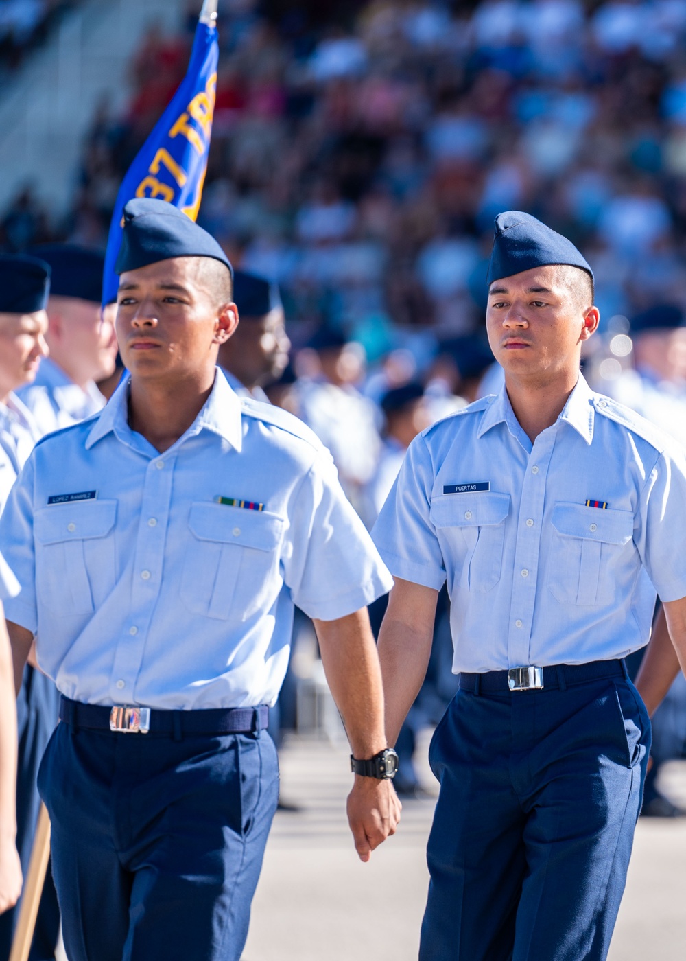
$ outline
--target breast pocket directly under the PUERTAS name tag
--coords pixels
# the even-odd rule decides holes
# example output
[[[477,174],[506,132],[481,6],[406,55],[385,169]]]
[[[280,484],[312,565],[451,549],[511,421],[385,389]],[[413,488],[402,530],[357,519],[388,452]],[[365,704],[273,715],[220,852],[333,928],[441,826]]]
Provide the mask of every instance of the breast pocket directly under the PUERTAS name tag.
[[[501,579],[509,509],[509,494],[490,491],[444,494],[431,500],[431,524],[443,541],[446,570],[450,562],[454,565],[457,586],[484,592]]]

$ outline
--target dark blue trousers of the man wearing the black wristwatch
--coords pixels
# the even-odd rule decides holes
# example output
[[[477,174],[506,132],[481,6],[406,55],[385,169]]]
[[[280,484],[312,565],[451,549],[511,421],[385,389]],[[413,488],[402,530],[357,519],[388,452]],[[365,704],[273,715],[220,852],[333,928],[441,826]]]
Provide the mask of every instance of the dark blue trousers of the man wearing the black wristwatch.
[[[38,788],[70,961],[238,961],[279,796],[266,731],[62,723]]]

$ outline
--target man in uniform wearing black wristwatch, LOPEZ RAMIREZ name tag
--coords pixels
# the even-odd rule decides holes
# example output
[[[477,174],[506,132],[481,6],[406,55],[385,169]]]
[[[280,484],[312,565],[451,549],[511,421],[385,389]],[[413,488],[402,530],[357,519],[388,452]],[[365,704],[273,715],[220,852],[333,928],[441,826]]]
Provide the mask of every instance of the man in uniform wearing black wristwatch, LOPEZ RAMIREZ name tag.
[[[15,673],[36,638],[61,691],[38,787],[70,959],[106,944],[112,959],[238,961],[277,805],[266,705],[294,604],[361,768],[360,858],[398,823],[366,610],[392,579],[319,440],[216,366],[238,324],[222,248],[162,201],[131,201],[124,220],[130,374],[102,412],[38,442],[0,521],[22,585]]]

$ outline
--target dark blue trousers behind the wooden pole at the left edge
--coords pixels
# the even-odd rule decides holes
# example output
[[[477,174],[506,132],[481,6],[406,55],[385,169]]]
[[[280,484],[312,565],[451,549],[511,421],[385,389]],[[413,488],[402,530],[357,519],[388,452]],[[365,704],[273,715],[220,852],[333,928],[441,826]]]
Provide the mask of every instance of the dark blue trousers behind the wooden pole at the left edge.
[[[16,772],[16,848],[21,870],[26,877],[38,821],[40,798],[37,776],[40,759],[58,722],[60,695],[55,684],[36,668],[24,668],[19,696],[16,699],[19,750]],[[12,949],[12,937],[19,916],[21,900],[10,911],[0,915],[0,961],[7,961]],[[49,961],[55,957],[60,933],[60,908],[52,876],[48,874],[43,886],[40,907],[29,955],[30,961]]]

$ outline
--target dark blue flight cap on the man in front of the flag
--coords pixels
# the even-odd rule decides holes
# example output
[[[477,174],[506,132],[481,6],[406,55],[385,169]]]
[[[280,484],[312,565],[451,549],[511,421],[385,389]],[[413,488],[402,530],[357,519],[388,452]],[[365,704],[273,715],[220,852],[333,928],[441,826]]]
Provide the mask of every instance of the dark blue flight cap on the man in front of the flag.
[[[114,272],[123,274],[174,257],[220,260],[233,278],[233,267],[217,241],[183,210],[152,197],[130,200],[124,208],[124,230]]]

